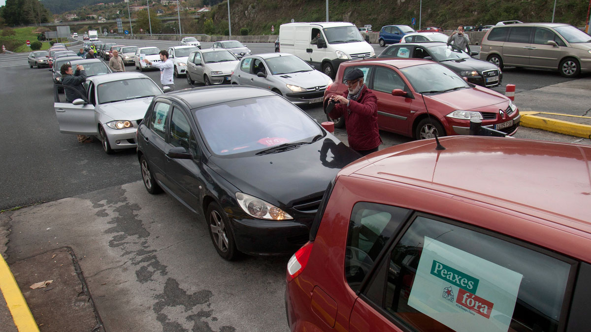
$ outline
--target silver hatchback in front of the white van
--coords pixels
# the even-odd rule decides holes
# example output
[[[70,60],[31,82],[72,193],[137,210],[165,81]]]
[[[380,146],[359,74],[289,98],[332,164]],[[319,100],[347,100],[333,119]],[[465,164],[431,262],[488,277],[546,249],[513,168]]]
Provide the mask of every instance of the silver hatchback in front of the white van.
[[[333,83],[326,74],[287,53],[245,56],[232,73],[232,84],[262,87],[284,96],[295,105],[321,103]]]

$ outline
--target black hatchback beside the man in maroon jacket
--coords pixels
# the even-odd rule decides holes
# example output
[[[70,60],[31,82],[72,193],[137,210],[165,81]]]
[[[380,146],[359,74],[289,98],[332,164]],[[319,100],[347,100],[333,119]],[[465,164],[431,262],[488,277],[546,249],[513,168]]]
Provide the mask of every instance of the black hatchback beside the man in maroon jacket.
[[[296,252],[327,185],[359,158],[301,109],[256,87],[156,96],[137,136],[148,192],[164,190],[202,214],[228,260]]]

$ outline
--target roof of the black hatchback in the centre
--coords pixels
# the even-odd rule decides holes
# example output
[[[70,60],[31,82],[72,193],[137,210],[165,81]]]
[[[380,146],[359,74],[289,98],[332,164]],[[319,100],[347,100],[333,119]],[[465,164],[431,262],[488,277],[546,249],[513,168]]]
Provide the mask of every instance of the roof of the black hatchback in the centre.
[[[180,99],[189,108],[194,109],[253,97],[277,96],[277,94],[259,87],[232,85],[196,87],[168,92],[161,96]]]

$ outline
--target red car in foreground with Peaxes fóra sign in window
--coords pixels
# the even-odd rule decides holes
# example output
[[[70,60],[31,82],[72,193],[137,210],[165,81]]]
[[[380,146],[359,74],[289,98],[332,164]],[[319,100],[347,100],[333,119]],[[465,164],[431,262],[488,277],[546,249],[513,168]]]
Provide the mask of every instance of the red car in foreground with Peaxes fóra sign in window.
[[[288,262],[291,331],[589,331],[591,147],[440,141],[337,174]]]

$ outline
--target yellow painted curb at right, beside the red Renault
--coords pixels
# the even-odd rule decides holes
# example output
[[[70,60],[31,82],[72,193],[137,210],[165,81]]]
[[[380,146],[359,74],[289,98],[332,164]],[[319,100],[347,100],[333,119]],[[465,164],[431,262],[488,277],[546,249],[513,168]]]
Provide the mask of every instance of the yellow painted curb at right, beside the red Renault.
[[[545,131],[557,132],[564,135],[571,135],[583,138],[591,138],[591,126],[581,123],[573,123],[557,119],[544,118],[541,112],[520,112],[520,126],[543,129]],[[554,115],[564,115],[559,113],[547,113]],[[568,115],[565,115],[568,116]],[[587,118],[586,116],[573,115],[576,118]]]

